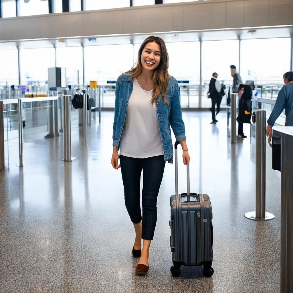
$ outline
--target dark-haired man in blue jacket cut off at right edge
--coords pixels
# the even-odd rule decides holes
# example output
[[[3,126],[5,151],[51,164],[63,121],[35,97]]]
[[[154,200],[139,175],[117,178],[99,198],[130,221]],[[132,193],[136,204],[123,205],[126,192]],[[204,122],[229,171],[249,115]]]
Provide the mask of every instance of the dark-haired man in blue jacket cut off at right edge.
[[[267,136],[270,147],[272,147],[272,127],[280,114],[285,109],[285,126],[293,126],[293,71],[283,75],[284,84],[277,96],[275,106],[268,119]]]

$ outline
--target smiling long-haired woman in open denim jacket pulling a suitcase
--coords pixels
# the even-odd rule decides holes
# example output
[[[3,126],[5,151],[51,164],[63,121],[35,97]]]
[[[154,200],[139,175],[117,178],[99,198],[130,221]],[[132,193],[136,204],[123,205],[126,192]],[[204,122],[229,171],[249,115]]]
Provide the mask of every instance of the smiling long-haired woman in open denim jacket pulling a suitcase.
[[[120,75],[116,82],[111,164],[116,170],[121,167],[125,206],[135,229],[132,255],[140,257],[135,270],[137,274],[145,274],[149,270],[149,248],[157,220],[157,197],[165,163],[173,162],[170,125],[176,141],[181,144],[183,163],[188,165],[190,161],[180,89],[176,79],[168,74],[168,59],[165,42],[150,36],[139,48],[136,66]]]

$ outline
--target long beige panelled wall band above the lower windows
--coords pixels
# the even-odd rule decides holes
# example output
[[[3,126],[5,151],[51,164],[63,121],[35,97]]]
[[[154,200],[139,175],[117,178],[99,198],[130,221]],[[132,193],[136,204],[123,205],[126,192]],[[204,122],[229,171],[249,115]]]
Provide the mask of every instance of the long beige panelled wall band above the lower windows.
[[[3,18],[0,40],[292,25],[292,11],[292,0],[212,0]]]

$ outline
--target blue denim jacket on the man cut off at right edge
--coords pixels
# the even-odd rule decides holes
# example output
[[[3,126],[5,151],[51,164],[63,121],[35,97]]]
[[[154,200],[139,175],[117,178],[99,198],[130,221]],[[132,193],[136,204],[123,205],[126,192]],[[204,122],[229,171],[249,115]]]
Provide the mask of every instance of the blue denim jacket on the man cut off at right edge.
[[[292,118],[292,105],[293,105],[293,84],[285,84],[278,94],[275,106],[268,119],[268,124],[274,126],[275,121],[280,116],[285,108],[285,126],[293,126]]]

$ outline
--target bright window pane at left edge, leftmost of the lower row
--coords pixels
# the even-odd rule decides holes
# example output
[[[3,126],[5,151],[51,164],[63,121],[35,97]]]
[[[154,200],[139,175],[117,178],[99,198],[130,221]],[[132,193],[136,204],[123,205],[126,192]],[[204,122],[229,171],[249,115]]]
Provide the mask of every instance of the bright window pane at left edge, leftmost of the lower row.
[[[0,85],[18,84],[18,52],[14,50],[0,51]]]

